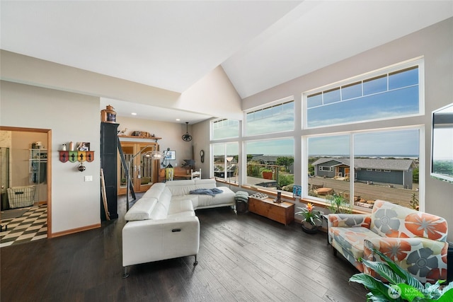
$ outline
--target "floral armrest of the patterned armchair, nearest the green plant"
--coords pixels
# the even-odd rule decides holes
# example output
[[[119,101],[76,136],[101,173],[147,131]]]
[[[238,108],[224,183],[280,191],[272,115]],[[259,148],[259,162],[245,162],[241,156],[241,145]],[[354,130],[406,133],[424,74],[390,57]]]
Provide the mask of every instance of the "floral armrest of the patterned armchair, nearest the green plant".
[[[428,238],[369,238],[364,242],[364,259],[384,262],[373,249],[379,250],[423,283],[447,279],[448,243]],[[375,273],[364,266],[364,272]],[[376,277],[376,276],[375,276]]]

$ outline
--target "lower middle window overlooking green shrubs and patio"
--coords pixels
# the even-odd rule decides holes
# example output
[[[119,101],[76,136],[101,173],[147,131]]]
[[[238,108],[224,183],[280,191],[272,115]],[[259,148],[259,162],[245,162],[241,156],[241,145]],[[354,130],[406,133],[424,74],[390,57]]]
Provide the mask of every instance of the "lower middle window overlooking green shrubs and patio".
[[[294,184],[294,139],[246,141],[246,184],[268,190],[289,190]]]

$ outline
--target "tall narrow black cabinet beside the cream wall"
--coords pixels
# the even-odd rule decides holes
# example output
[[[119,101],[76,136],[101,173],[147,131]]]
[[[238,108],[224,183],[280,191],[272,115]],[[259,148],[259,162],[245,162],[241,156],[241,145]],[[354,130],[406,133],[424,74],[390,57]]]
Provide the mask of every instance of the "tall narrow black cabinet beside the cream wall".
[[[117,129],[119,124],[101,122],[101,168],[104,171],[105,196],[110,219],[118,218],[117,207]],[[102,185],[102,184],[101,184]],[[107,220],[101,196],[101,219]]]

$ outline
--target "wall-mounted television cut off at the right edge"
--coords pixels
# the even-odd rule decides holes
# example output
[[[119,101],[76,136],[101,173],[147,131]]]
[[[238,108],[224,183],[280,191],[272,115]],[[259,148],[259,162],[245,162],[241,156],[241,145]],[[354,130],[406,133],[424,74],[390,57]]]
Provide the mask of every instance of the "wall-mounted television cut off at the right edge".
[[[432,112],[431,176],[453,183],[453,103]]]

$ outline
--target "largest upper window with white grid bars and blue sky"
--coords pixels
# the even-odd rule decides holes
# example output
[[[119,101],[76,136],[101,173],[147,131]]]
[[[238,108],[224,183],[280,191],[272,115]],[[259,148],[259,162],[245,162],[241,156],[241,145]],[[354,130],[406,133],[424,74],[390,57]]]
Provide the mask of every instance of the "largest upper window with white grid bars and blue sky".
[[[421,62],[353,79],[306,95],[306,127],[323,127],[420,113]]]

